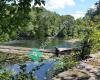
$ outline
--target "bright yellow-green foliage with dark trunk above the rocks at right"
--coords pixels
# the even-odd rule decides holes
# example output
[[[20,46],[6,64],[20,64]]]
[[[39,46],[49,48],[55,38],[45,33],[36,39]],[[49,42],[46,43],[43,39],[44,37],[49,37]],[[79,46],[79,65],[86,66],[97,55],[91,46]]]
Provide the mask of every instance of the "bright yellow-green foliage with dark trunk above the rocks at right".
[[[86,18],[86,27],[81,47],[81,58],[84,59],[91,53],[100,49],[100,30],[98,26],[89,18]]]

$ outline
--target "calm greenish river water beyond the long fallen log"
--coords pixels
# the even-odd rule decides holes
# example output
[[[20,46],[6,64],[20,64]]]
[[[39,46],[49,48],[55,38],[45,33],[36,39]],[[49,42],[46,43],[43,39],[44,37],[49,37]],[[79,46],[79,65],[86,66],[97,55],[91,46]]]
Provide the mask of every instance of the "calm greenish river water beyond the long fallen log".
[[[29,47],[29,48],[39,48],[42,43],[46,40],[13,40],[9,42],[2,43],[3,45],[18,46],[18,47]],[[68,42],[66,39],[51,39],[47,41],[47,46],[45,48],[63,47],[63,48],[73,48],[78,45]]]

